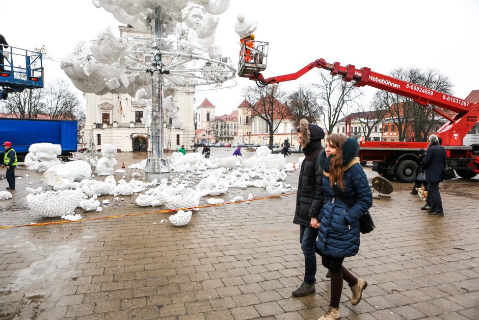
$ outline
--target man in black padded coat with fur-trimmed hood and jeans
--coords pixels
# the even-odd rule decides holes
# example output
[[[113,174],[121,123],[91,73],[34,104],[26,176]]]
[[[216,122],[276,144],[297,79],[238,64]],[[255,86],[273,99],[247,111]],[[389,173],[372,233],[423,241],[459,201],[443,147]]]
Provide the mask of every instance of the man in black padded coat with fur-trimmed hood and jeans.
[[[323,150],[321,140],[324,131],[309,124],[306,119],[300,121],[296,130],[299,143],[306,158],[301,164],[296,195],[296,211],[293,223],[300,225],[300,243],[304,254],[304,282],[292,292],[295,297],[303,297],[316,291],[316,239],[319,228],[317,215],[323,207],[323,168],[320,165],[320,153]]]

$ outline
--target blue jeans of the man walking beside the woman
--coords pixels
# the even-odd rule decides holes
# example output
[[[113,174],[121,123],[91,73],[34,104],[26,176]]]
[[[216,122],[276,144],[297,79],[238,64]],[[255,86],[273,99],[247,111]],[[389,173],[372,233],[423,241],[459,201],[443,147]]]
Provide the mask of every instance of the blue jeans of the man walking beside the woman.
[[[300,225],[300,243],[304,254],[304,282],[316,282],[316,239],[319,229]]]

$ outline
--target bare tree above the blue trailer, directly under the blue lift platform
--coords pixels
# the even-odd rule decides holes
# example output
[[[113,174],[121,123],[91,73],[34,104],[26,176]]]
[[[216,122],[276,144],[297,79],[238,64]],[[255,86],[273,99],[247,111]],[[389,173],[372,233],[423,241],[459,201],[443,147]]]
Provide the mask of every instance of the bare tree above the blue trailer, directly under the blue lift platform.
[[[25,89],[22,92],[11,92],[4,102],[2,111],[14,114],[17,118],[36,119],[45,110],[44,91],[42,89]]]

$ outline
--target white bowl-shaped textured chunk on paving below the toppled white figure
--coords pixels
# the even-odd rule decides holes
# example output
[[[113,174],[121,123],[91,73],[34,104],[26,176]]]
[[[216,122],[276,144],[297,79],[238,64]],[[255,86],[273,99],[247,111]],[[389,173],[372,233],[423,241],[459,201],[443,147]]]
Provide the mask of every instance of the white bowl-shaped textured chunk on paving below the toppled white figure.
[[[59,217],[70,214],[83,200],[83,191],[76,190],[47,191],[26,195],[29,207],[44,217]]]

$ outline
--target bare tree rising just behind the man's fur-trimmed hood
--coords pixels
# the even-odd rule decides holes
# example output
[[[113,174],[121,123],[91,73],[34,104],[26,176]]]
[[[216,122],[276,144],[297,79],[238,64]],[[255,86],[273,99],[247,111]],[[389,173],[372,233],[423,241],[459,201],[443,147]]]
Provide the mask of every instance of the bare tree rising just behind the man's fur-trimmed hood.
[[[316,93],[310,88],[300,86],[287,97],[289,110],[293,116],[293,124],[299,126],[299,121],[306,118],[310,124],[323,116],[323,107],[317,102]]]

